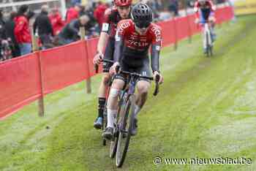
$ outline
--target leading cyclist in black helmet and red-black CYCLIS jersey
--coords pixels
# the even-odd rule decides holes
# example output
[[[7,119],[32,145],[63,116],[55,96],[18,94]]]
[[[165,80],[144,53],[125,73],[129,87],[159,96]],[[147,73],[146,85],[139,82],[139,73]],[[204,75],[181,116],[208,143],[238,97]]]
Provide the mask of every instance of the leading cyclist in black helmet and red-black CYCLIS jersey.
[[[162,45],[161,28],[152,23],[152,10],[147,4],[138,3],[132,8],[132,19],[121,20],[116,31],[116,45],[114,52],[115,63],[110,68],[110,73],[116,73],[116,66],[127,72],[137,72],[138,74],[150,76],[150,62],[148,49],[151,47],[151,69],[153,76],[160,76],[159,83],[163,77],[159,72],[159,53]],[[113,138],[113,122],[117,114],[118,94],[124,87],[126,76],[117,74],[110,88],[108,97],[108,125],[103,132],[107,139]],[[132,127],[132,135],[137,133],[137,115],[145,104],[150,81],[140,79],[137,83],[138,96],[135,106],[135,124]]]

